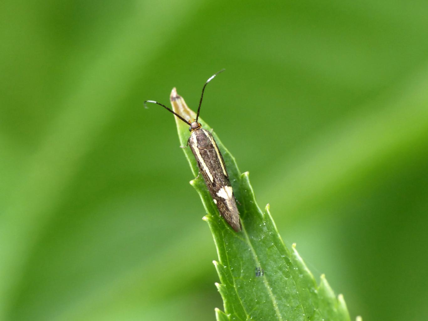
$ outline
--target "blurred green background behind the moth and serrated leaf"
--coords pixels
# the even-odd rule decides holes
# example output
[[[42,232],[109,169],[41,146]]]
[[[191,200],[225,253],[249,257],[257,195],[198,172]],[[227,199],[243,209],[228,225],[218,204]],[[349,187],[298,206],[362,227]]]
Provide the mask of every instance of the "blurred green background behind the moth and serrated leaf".
[[[364,321],[428,319],[426,1],[2,1],[0,319],[214,320],[169,104]]]

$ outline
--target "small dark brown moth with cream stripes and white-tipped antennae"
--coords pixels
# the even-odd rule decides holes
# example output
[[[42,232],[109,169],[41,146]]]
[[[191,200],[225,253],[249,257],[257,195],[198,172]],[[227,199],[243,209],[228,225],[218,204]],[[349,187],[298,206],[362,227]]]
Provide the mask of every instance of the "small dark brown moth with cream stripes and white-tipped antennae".
[[[198,122],[199,110],[201,109],[202,98],[204,96],[205,86],[220,72],[220,70],[205,82],[202,88],[201,99],[199,100],[198,112],[196,113],[196,119],[192,122],[184,119],[184,117],[178,115],[173,110],[169,109],[163,104],[157,101],[147,100],[146,102],[158,104],[173,113],[187,125],[190,125],[190,137],[187,140],[187,145],[190,146],[190,150],[195,156],[196,162],[198,163],[199,172],[205,180],[205,184],[208,187],[211,197],[214,203],[217,205],[220,215],[229,223],[230,226],[236,231],[241,231],[241,221],[239,220],[239,212],[236,206],[235,196],[233,189],[229,181],[229,175],[227,174],[226,164],[224,163],[223,156],[218,149],[217,143],[211,133],[202,128],[202,125]],[[171,102],[181,99],[179,95],[171,96]]]

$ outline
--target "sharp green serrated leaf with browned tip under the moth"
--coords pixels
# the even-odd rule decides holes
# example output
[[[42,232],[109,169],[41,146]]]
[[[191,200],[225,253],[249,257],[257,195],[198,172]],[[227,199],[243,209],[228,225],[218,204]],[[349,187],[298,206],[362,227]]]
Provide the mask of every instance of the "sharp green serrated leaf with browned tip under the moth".
[[[175,88],[171,96],[176,96]],[[183,98],[172,101],[173,110],[185,119],[194,119]],[[176,119],[181,145],[187,144],[188,125]],[[212,131],[202,119],[202,127]],[[214,266],[221,283],[216,283],[223,298],[224,313],[216,309],[218,321],[224,320],[350,320],[343,296],[337,298],[324,275],[319,285],[297,253],[295,244],[289,251],[279,236],[269,212],[269,205],[261,211],[249,180],[249,173],[241,173],[235,158],[212,133],[227,166],[229,178],[238,201],[242,231],[235,232],[214,204],[202,175],[190,181],[207,211],[204,220],[213,234],[218,262]],[[189,148],[184,154],[193,174],[198,167]],[[264,271],[256,276],[258,269]]]

